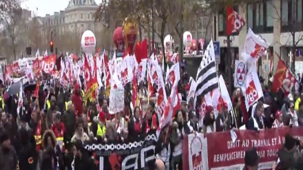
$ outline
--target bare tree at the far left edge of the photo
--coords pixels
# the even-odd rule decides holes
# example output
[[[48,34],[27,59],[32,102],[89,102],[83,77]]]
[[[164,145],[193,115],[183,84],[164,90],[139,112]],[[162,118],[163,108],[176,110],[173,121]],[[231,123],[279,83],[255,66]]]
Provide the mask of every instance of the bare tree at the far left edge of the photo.
[[[0,2],[0,24],[4,28],[3,35],[10,39],[14,60],[17,56],[16,28],[21,21],[21,15],[21,0],[2,0]]]

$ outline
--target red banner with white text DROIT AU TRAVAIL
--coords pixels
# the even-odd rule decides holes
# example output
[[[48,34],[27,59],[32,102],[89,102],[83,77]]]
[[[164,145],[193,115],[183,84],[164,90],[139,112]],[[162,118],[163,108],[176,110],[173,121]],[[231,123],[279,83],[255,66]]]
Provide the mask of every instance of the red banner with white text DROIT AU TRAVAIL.
[[[258,169],[271,169],[273,161],[278,160],[278,150],[284,143],[284,136],[289,133],[297,138],[302,138],[302,127],[282,127],[266,129],[264,131],[235,131],[237,138],[231,140],[231,132],[224,131],[207,134],[204,142],[207,150],[203,150],[203,160],[207,161],[203,166],[211,170],[218,169],[242,169],[244,167],[244,153],[247,149],[255,147],[260,156]],[[184,151],[184,150],[183,150]],[[184,152],[183,152],[184,153]]]

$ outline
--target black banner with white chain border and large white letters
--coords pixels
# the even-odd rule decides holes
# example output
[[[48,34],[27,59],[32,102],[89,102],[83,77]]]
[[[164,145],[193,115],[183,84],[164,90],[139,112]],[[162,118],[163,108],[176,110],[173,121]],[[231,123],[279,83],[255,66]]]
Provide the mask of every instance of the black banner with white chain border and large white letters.
[[[137,170],[148,167],[149,163],[154,163],[154,149],[156,147],[154,143],[157,141],[156,131],[150,131],[145,138],[136,142],[92,144],[83,145],[83,147],[92,151],[100,170]]]

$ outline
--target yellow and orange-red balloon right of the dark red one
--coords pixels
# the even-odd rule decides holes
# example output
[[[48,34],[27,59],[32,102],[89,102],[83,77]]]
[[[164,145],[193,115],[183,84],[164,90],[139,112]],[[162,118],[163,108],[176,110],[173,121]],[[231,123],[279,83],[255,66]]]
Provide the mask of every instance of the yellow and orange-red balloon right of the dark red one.
[[[132,54],[138,34],[137,25],[132,19],[126,18],[123,22],[122,30],[125,39],[125,47],[127,48],[127,51]]]

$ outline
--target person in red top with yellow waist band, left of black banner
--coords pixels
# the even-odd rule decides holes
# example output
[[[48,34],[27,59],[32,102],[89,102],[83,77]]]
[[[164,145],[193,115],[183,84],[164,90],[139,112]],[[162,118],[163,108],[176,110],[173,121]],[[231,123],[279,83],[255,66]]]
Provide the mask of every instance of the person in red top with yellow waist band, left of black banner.
[[[65,134],[65,126],[64,123],[61,122],[61,113],[56,113],[56,122],[52,124],[51,127],[52,131],[54,132],[54,136],[56,137],[56,145],[59,145],[61,151],[65,150],[64,147],[64,134]]]

